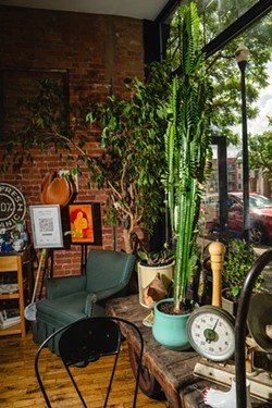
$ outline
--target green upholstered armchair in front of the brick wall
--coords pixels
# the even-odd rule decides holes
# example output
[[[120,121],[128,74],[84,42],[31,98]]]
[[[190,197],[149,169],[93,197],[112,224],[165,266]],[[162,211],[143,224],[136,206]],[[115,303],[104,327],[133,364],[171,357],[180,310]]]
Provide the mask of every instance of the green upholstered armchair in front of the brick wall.
[[[47,280],[46,298],[37,301],[33,338],[41,344],[64,325],[86,317],[104,316],[106,301],[126,295],[136,257],[124,252],[92,249],[86,274]],[[58,338],[49,343],[57,353]]]

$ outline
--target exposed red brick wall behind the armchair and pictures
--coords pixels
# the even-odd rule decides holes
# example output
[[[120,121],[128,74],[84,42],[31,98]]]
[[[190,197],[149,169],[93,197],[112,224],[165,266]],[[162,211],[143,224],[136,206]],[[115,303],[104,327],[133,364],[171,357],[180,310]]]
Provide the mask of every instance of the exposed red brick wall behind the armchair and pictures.
[[[69,72],[70,100],[103,99],[109,86],[125,95],[123,78],[144,75],[143,22],[120,16],[0,7],[0,67],[62,69]],[[91,135],[88,151],[99,149]],[[40,182],[48,171],[64,169],[59,156],[33,151],[17,173],[0,174],[0,181],[17,187],[27,206],[40,203]],[[107,191],[87,188],[88,173],[79,176],[76,201],[104,202]],[[76,202],[75,201],[75,202]],[[102,226],[103,248],[113,248],[113,231]],[[118,249],[122,248],[118,231]],[[79,273],[81,247],[54,251],[54,275]]]

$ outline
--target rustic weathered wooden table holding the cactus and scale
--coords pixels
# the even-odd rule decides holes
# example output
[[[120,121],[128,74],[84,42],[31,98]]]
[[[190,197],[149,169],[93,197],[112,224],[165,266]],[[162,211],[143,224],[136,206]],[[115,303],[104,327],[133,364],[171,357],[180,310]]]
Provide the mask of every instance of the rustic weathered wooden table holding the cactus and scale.
[[[140,329],[145,342],[144,368],[160,384],[172,408],[205,408],[208,406],[203,403],[202,393],[207,386],[227,390],[194,374],[194,368],[200,360],[194,350],[172,351],[154,341],[151,329],[143,324],[149,310],[139,305],[138,295],[111,299],[107,304],[107,312],[129,320]],[[133,329],[121,325],[131,350],[138,350],[138,339]],[[271,404],[255,400],[252,406],[271,407]]]

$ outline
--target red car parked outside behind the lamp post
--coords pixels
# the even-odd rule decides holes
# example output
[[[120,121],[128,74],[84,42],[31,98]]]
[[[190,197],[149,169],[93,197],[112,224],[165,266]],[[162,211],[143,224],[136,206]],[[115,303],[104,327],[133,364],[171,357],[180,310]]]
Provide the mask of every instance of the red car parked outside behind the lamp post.
[[[209,194],[202,200],[207,233],[219,231],[219,194]],[[227,232],[242,235],[244,230],[242,191],[227,194]],[[272,199],[256,193],[249,194],[249,236],[254,245],[268,244],[272,238]],[[203,231],[203,223],[200,231]]]

